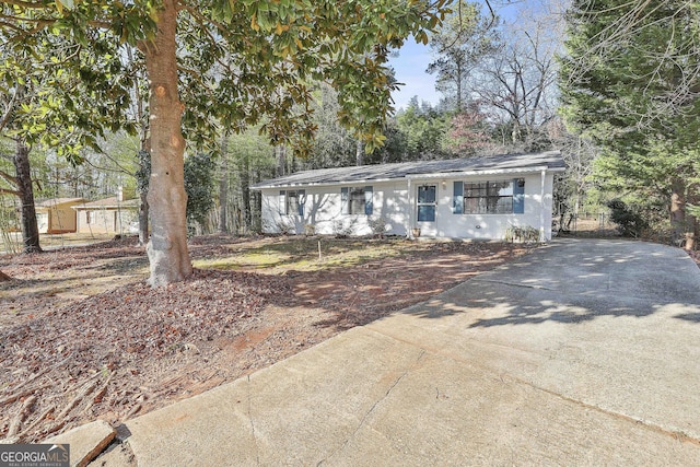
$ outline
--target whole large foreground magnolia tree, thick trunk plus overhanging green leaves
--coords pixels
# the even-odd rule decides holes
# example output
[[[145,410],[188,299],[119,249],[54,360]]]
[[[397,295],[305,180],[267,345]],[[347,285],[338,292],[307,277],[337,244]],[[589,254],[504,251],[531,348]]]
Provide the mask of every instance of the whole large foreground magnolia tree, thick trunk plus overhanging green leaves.
[[[50,34],[84,49],[104,44],[114,57],[122,43],[140,50],[150,83],[150,282],[161,285],[191,273],[185,138],[214,145],[218,125],[242,129],[262,121],[275,144],[304,151],[314,130],[308,83],[328,81],[339,92],[339,120],[372,150],[384,140],[390,110],[387,55],[409,35],[425,43],[445,3],[9,0],[0,2],[0,22],[14,44]],[[74,65],[57,67],[73,75],[104,73]]]

